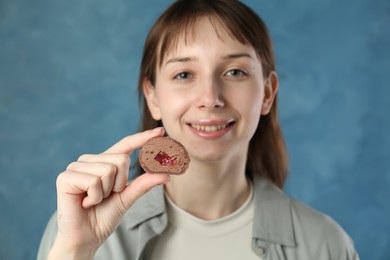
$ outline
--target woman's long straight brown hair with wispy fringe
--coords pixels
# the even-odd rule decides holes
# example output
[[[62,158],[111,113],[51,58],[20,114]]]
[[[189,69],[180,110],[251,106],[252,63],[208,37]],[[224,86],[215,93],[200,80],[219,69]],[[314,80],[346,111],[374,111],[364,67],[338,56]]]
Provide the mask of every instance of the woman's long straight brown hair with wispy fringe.
[[[145,41],[138,82],[139,98],[143,104],[141,130],[162,126],[150,114],[143,82],[155,85],[156,71],[165,55],[175,48],[181,37],[194,33],[195,24],[208,18],[213,25],[220,24],[242,44],[251,45],[262,62],[263,75],[268,77],[275,70],[275,58],[266,25],[249,7],[236,0],[178,0],[155,22]],[[216,26],[214,26],[216,28]],[[217,32],[218,33],[218,32]],[[288,170],[287,152],[277,120],[276,97],[269,114],[261,117],[249,143],[246,174],[259,174],[283,187]]]

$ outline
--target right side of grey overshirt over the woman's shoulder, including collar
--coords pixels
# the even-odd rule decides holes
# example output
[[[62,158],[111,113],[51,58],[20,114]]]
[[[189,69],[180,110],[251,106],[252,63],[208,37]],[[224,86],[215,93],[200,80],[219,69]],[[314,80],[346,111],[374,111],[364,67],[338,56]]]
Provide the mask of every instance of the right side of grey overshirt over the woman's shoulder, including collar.
[[[299,259],[358,259],[352,239],[332,217],[266,179],[254,178],[254,187],[255,237],[283,245]]]

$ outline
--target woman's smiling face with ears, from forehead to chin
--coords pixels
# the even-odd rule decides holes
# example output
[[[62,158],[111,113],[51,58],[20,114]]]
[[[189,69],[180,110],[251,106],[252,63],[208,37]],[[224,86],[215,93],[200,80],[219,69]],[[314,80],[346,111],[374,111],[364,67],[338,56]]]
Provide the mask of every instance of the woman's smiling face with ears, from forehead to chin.
[[[260,115],[269,112],[277,90],[277,83],[263,78],[253,47],[216,29],[208,19],[198,21],[195,33],[180,38],[165,56],[155,86],[144,84],[152,116],[192,160],[246,158]]]

